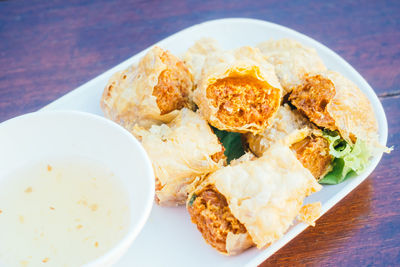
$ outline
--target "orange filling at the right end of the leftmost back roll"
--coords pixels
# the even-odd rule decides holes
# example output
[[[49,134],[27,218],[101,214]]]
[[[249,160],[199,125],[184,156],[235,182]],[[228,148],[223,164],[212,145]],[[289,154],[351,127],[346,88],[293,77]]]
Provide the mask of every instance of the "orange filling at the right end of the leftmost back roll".
[[[189,92],[192,90],[191,74],[183,62],[172,54],[164,52],[161,60],[168,67],[161,72],[153,89],[161,115],[189,106]]]

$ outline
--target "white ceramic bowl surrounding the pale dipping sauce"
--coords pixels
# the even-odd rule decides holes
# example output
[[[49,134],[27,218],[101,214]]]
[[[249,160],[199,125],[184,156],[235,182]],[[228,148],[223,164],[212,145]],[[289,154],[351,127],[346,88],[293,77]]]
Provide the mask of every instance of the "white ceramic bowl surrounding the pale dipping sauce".
[[[140,143],[110,120],[78,111],[26,114],[0,124],[0,148],[0,179],[38,159],[80,156],[104,163],[122,182],[130,202],[128,231],[112,249],[85,266],[115,263],[150,214],[154,199],[150,160]]]

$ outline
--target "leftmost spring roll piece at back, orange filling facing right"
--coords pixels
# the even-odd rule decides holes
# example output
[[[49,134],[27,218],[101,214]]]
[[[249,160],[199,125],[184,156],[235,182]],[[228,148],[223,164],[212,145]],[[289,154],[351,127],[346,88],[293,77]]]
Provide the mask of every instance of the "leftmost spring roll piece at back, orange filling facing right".
[[[138,64],[115,73],[100,106],[106,117],[125,126],[149,128],[168,123],[182,107],[191,107],[192,76],[184,63],[157,46]]]

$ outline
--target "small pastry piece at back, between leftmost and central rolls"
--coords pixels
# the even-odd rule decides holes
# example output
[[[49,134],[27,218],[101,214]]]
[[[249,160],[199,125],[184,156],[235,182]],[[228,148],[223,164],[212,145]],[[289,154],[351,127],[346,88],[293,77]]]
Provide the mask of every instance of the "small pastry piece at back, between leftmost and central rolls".
[[[201,38],[193,46],[189,47],[182,59],[193,75],[193,81],[197,86],[207,56],[222,51],[218,42],[212,38]]]

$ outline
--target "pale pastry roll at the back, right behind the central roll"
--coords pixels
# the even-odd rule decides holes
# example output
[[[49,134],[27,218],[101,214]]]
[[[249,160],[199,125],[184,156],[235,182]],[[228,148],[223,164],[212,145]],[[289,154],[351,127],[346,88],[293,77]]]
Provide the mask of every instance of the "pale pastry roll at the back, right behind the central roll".
[[[269,40],[257,45],[274,65],[284,94],[301,83],[305,74],[325,71],[326,67],[314,48],[292,39]]]

